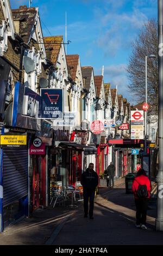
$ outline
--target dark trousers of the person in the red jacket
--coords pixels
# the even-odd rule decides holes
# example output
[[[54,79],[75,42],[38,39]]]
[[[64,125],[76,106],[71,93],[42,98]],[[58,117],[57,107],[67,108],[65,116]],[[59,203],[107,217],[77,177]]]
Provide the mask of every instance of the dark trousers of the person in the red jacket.
[[[136,224],[144,224],[146,225],[147,218],[147,208],[148,208],[149,199],[135,199],[136,205]]]

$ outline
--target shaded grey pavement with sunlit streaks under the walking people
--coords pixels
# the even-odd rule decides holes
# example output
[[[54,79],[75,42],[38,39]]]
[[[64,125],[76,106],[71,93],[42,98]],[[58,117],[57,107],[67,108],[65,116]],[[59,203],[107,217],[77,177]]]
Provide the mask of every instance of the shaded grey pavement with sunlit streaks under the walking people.
[[[77,207],[37,209],[0,234],[0,245],[163,245],[155,231],[156,201],[148,207],[147,230],[135,227],[133,194],[126,194],[124,178],[114,188],[99,188],[94,219],[84,218],[83,202]]]

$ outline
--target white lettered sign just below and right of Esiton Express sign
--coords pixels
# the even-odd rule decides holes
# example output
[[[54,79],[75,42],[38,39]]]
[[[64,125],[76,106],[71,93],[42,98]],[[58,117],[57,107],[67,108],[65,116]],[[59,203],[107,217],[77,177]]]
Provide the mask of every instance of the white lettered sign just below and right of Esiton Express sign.
[[[63,119],[53,121],[53,127],[76,127],[76,113],[64,112]]]

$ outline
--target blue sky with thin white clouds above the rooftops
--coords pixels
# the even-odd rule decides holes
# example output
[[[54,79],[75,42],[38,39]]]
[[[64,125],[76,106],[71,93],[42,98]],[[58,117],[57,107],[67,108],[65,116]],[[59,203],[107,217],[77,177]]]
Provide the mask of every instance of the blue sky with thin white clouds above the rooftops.
[[[28,0],[10,0],[12,8],[27,4]],[[131,42],[149,18],[157,18],[157,0],[33,0],[39,7],[44,36],[65,36],[67,12],[67,54],[80,55],[82,66],[92,66],[95,75],[101,75],[104,65],[104,82],[118,86],[134,102],[127,89],[126,68]],[[48,32],[49,31],[49,32]]]

